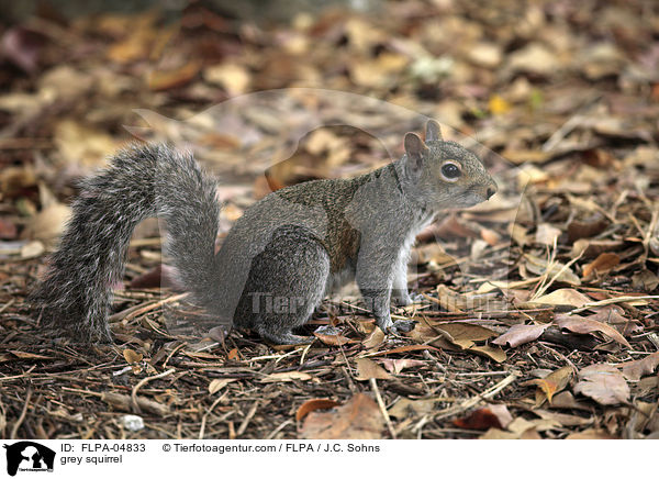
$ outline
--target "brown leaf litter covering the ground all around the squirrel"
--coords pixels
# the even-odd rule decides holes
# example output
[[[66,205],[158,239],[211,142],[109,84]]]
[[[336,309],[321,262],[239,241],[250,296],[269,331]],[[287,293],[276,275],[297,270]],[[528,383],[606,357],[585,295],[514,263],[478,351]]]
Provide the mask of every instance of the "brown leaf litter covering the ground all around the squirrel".
[[[273,24],[190,5],[175,25],[153,11],[3,25],[12,49],[0,60],[0,436],[657,437],[650,4],[544,1],[501,15],[510,7],[500,0],[404,0],[368,16],[333,9]],[[281,157],[278,138],[317,114],[317,99],[290,90],[276,109],[203,112],[288,87],[401,104],[493,152],[485,160],[500,192],[418,237],[410,279],[425,300],[393,312],[415,328],[386,337],[355,297],[338,311],[325,301],[308,333],[327,327],[303,347],[175,334],[165,315],[203,313],[159,288],[167,270],[147,221],[116,291],[115,345],[53,341],[25,294],[77,180],[131,134],[194,145],[223,179],[222,235],[271,189],[353,176],[387,163],[387,148],[401,153],[390,125],[407,120],[372,115],[367,102],[332,108],[348,123],[368,118],[378,137],[320,127],[272,168],[245,158]],[[144,428],[124,427],[126,413]]]

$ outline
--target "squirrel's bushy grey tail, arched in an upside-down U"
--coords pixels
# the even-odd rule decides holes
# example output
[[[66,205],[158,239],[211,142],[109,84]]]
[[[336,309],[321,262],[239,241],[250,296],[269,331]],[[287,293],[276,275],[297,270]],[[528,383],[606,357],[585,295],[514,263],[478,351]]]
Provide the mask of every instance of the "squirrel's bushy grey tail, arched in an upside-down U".
[[[166,145],[116,154],[108,168],[82,182],[59,248],[31,294],[42,318],[77,339],[110,341],[112,287],[121,281],[133,230],[154,215],[167,223],[167,254],[177,280],[208,303],[220,213],[215,193],[215,181],[191,154]]]

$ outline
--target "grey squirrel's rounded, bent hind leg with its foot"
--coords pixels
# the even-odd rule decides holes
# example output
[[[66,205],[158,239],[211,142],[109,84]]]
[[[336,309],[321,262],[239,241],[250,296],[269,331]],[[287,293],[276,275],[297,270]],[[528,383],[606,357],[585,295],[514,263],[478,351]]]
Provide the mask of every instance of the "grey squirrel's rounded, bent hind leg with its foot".
[[[283,226],[252,260],[236,313],[261,337],[278,344],[309,343],[297,336],[325,294],[330,256],[305,229]],[[247,321],[245,321],[247,320]]]

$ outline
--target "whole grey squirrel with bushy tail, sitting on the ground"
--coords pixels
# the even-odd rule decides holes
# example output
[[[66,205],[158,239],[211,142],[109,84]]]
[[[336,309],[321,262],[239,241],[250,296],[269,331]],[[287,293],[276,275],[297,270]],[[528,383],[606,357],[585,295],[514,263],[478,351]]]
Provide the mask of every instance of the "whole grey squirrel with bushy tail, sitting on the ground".
[[[250,328],[278,344],[303,343],[292,330],[330,290],[355,279],[377,325],[395,328],[390,301],[412,302],[406,268],[416,234],[442,210],[472,207],[496,192],[480,159],[444,141],[433,120],[425,143],[407,133],[404,147],[401,159],[369,174],[268,194],[236,221],[217,254],[216,183],[192,155],[160,144],[122,151],[82,182],[32,294],[36,311],[79,341],[111,341],[112,286],[121,280],[131,234],[159,215],[177,282],[219,325]]]

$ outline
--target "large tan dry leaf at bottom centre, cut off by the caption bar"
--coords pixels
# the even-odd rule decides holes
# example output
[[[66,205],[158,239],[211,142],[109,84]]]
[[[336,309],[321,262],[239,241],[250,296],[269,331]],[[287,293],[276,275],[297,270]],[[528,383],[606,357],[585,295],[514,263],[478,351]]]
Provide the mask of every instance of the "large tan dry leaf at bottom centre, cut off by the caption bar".
[[[300,435],[304,439],[380,439],[383,431],[384,420],[376,401],[358,393],[344,405],[309,413]]]

